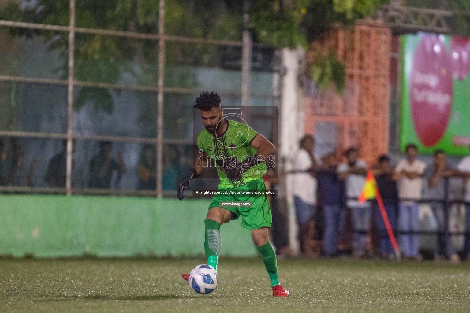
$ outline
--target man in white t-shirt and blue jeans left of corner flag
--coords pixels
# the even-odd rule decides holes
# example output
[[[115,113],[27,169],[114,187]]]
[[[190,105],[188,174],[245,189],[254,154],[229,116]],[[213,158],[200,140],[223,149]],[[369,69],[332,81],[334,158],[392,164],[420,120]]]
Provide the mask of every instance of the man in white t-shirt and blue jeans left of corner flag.
[[[359,202],[364,184],[366,183],[367,164],[359,159],[359,151],[351,147],[345,152],[347,163],[341,163],[337,172],[339,179],[345,180],[346,186],[346,206],[351,209],[352,221],[354,223],[353,255],[361,257],[364,255],[367,232],[370,225],[370,203]]]

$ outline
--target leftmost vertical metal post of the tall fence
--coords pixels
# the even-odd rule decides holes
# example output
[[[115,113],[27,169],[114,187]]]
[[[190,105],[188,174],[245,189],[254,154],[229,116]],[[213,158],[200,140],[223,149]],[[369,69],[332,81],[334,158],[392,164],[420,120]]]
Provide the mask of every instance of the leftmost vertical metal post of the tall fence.
[[[67,168],[65,187],[67,195],[72,194],[72,117],[73,117],[73,69],[75,50],[75,0],[70,0],[70,30],[69,30],[69,83],[67,90]]]

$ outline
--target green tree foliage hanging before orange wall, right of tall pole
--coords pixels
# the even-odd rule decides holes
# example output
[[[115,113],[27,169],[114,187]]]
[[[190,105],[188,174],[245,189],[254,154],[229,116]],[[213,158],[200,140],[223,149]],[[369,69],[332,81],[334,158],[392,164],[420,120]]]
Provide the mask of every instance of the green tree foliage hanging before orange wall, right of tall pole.
[[[264,44],[276,47],[306,48],[321,39],[332,24],[350,26],[365,18],[387,0],[258,0],[251,9],[251,23]],[[289,3],[286,5],[286,3]],[[309,53],[307,73],[321,89],[332,84],[338,92],[345,86],[345,69],[336,53]]]

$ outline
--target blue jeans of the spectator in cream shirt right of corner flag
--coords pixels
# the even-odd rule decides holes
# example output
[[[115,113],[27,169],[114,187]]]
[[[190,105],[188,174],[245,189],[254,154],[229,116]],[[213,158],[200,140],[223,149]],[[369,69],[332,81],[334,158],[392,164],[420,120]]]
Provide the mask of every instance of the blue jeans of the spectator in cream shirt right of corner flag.
[[[416,202],[400,202],[399,223],[402,231],[419,231],[419,205]],[[415,257],[419,252],[419,235],[402,234],[401,250],[407,257]]]

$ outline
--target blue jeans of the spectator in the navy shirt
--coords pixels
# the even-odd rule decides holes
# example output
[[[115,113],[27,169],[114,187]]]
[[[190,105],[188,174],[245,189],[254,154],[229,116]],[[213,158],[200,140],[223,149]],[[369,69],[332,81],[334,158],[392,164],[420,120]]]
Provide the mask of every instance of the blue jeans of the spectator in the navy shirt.
[[[323,206],[325,216],[325,227],[323,230],[323,250],[327,255],[333,255],[337,252],[337,237],[341,226],[341,206],[325,205]]]

